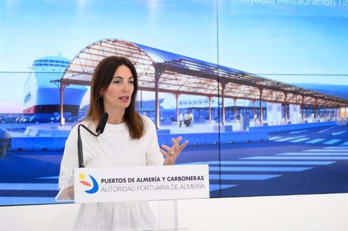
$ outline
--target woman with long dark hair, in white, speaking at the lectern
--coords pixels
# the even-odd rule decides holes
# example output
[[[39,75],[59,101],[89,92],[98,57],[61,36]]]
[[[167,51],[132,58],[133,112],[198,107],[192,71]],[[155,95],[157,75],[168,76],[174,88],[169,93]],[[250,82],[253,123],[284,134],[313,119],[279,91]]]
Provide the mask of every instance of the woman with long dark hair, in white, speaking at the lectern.
[[[125,57],[110,56],[96,66],[92,83],[90,107],[81,124],[95,131],[104,112],[108,119],[103,134],[92,136],[81,130],[83,160],[86,168],[117,166],[174,165],[188,140],[172,138],[171,147],[157,142],[156,127],[136,111],[138,75],[132,62]],[[76,125],[65,145],[59,176],[59,188],[67,185],[77,168]],[[163,159],[163,156],[165,159]],[[77,230],[153,230],[158,228],[147,201],[123,201],[82,204],[74,224]]]

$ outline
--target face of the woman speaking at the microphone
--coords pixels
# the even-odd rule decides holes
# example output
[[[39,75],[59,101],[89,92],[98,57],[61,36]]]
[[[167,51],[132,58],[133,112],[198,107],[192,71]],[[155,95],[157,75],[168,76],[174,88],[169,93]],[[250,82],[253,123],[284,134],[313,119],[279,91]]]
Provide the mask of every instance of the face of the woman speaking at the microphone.
[[[134,77],[131,69],[121,65],[114,72],[112,81],[102,93],[105,111],[125,110],[131,103],[134,91]]]

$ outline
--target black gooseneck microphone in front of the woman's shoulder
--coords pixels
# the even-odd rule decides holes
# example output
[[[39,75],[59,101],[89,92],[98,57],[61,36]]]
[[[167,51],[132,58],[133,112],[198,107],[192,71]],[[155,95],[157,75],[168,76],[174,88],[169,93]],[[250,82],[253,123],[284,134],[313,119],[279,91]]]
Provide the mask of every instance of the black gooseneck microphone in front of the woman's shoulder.
[[[89,133],[91,133],[92,135],[97,137],[101,133],[103,133],[108,117],[109,117],[109,114],[107,114],[106,112],[101,114],[99,122],[98,122],[98,125],[97,125],[97,129],[96,129],[97,133],[96,134],[93,131],[91,131],[88,127],[83,125],[83,124],[79,124],[79,126],[77,127],[77,156],[79,158],[79,168],[84,168],[84,165],[83,165],[83,151],[82,151],[82,139],[81,139],[80,127],[83,127]]]

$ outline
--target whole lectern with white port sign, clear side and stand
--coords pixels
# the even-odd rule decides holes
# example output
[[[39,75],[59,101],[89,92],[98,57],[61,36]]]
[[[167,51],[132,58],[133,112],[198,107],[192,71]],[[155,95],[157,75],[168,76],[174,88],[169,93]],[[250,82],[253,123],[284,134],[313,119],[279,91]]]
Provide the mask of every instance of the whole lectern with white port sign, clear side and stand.
[[[178,199],[193,198],[209,198],[208,165],[76,168],[55,200],[151,201],[157,219],[155,230],[188,230],[179,228]]]

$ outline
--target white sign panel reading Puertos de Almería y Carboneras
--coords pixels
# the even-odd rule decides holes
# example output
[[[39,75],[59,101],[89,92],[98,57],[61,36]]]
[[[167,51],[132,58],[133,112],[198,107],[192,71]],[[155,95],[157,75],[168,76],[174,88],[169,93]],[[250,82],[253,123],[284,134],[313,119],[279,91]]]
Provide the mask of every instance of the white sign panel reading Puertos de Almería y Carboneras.
[[[78,168],[75,203],[209,198],[208,165]]]

